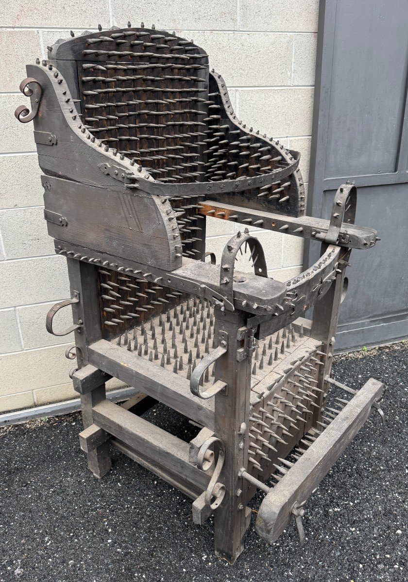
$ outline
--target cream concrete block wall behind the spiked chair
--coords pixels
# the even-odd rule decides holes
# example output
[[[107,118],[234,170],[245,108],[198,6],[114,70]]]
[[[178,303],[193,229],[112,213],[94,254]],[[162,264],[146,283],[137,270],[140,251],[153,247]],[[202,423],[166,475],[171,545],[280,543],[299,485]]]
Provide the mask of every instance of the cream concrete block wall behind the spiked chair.
[[[26,103],[25,64],[69,30],[155,24],[201,45],[226,80],[240,119],[302,154],[308,180],[318,0],[4,0],[0,5],[0,412],[75,397],[64,352],[67,338],[45,331],[45,314],[68,297],[65,259],[53,252],[43,219],[43,191],[32,124],[14,118]],[[236,227],[210,221],[207,250],[217,256]],[[301,270],[301,240],[258,233],[269,275]],[[239,265],[247,269],[248,265]],[[60,312],[61,313],[61,312]],[[68,324],[69,310],[58,324]],[[56,321],[57,323],[57,321]],[[111,387],[118,383],[111,382]]]

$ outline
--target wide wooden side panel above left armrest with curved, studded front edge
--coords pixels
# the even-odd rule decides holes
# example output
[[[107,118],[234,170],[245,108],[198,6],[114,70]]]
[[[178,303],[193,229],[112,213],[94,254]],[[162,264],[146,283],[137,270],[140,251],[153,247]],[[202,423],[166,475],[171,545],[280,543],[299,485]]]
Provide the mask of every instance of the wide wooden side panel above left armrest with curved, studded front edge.
[[[174,212],[168,202],[163,205],[150,196],[86,184],[78,189],[72,180],[51,176],[43,176],[43,183],[47,183],[45,208],[66,219],[66,226],[47,222],[51,236],[105,252],[115,249],[122,259],[133,259],[135,248],[143,248],[152,265],[170,271],[180,267],[175,245],[181,240],[173,239]]]

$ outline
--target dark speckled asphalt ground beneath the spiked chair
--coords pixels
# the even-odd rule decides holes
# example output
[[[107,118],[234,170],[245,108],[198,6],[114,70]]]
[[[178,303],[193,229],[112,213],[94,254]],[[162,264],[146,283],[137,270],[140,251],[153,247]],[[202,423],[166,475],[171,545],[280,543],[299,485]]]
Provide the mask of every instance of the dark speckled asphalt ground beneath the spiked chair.
[[[303,549],[294,523],[272,546],[256,535],[257,495],[234,566],[213,554],[212,520],[195,526],[187,497],[116,450],[96,480],[79,449],[79,414],[3,428],[0,581],[407,580],[407,361],[403,342],[335,358],[349,386],[385,382],[386,428],[372,414],[326,475],[307,504]],[[145,417],[194,435],[161,405]]]

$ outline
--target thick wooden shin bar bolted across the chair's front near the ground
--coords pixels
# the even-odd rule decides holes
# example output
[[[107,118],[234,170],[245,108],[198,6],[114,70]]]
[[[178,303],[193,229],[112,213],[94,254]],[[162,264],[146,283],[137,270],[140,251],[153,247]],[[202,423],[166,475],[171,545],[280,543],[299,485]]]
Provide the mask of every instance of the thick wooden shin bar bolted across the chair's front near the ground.
[[[300,459],[266,495],[256,518],[256,531],[273,544],[288,526],[294,503],[303,503],[363,426],[372,403],[384,390],[374,378],[357,392]]]

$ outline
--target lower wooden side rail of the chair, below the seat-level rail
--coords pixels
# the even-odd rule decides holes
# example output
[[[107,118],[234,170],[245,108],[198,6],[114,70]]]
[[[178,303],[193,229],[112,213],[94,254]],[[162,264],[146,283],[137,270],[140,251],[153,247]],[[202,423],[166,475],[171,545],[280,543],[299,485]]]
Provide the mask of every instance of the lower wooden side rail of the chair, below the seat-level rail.
[[[121,406],[104,400],[93,409],[95,424],[145,457],[154,465],[180,475],[181,481],[195,484],[201,492],[209,476],[188,462],[189,444],[156,427]]]

